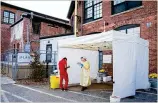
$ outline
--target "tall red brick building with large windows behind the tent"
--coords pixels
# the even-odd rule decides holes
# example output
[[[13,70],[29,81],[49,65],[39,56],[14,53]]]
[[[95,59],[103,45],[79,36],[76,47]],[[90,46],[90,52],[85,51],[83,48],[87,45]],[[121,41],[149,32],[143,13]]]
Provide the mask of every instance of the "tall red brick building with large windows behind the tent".
[[[72,1],[67,15],[72,26],[74,8]],[[149,71],[157,72],[157,1],[78,1],[77,18],[78,36],[114,29],[148,40]]]

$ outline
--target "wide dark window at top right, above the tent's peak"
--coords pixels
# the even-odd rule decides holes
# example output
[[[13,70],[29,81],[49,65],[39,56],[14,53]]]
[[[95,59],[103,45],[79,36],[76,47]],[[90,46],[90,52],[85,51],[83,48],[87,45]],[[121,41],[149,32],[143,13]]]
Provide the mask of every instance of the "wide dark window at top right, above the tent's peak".
[[[112,14],[117,14],[135,7],[142,6],[142,1],[126,1],[126,0],[113,0]]]

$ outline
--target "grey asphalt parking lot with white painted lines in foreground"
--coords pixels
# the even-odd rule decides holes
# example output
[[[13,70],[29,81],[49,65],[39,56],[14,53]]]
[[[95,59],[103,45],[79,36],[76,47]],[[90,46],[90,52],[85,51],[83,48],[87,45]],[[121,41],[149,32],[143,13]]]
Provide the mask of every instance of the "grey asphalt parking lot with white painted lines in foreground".
[[[109,102],[112,91],[68,91],[48,89],[45,86],[24,86],[19,84],[1,85],[1,102]],[[157,92],[137,91],[135,98],[122,102],[156,102]]]

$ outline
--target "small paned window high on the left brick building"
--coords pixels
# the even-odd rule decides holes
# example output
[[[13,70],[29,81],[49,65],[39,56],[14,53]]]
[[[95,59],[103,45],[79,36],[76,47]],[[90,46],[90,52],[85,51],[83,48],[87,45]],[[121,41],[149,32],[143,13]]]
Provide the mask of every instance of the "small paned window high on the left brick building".
[[[4,11],[3,22],[8,24],[13,24],[15,22],[15,14],[9,11]]]

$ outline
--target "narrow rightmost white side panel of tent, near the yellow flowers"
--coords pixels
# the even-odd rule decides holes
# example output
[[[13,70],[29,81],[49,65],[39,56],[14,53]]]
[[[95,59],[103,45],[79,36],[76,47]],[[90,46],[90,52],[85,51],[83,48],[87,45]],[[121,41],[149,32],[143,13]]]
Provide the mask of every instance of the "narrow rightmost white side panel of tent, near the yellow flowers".
[[[137,44],[136,89],[149,88],[149,49],[148,42]]]

